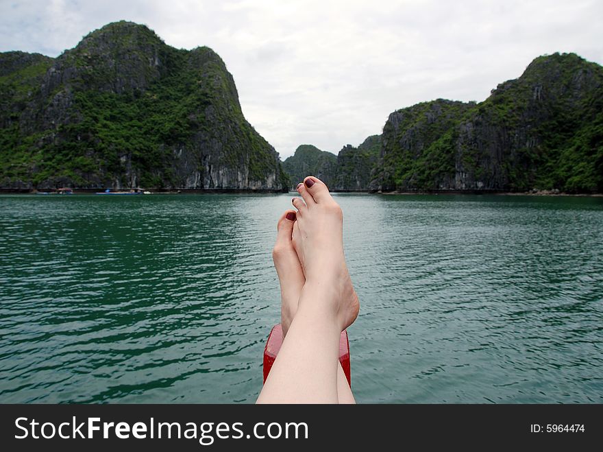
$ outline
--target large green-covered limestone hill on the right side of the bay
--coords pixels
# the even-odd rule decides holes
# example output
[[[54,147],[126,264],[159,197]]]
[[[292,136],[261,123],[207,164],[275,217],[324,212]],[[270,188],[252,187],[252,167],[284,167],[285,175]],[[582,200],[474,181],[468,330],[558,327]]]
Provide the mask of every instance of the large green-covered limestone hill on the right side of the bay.
[[[536,58],[479,104],[438,99],[385,123],[372,191],[603,191],[603,68]]]

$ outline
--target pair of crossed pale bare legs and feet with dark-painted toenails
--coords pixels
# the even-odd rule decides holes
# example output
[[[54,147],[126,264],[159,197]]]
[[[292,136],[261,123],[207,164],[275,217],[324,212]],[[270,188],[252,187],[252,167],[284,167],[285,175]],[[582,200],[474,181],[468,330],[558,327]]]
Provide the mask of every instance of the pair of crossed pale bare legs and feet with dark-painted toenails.
[[[280,218],[273,249],[284,340],[258,403],[354,403],[338,359],[339,335],[359,309],[343,254],[343,213],[318,178],[297,191],[297,212]]]

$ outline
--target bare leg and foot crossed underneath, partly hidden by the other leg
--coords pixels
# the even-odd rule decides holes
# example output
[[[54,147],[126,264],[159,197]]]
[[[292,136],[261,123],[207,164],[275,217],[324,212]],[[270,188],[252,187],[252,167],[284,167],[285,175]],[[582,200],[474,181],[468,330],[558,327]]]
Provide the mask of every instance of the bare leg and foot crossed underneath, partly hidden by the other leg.
[[[272,250],[272,260],[280,283],[283,337],[286,336],[289,325],[295,317],[297,300],[299,300],[299,295],[302,294],[302,288],[306,283],[302,264],[293,248],[293,222],[295,222],[294,211],[283,213],[277,224],[276,243]],[[339,403],[356,403],[339,359],[337,364],[337,399]]]

